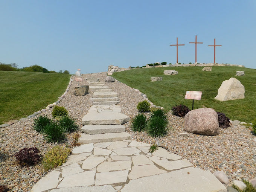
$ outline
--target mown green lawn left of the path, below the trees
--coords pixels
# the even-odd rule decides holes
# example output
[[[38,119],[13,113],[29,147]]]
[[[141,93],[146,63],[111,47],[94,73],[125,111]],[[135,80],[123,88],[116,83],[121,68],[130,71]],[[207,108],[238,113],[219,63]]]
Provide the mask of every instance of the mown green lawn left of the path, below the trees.
[[[70,75],[0,71],[0,124],[20,119],[58,100]]]

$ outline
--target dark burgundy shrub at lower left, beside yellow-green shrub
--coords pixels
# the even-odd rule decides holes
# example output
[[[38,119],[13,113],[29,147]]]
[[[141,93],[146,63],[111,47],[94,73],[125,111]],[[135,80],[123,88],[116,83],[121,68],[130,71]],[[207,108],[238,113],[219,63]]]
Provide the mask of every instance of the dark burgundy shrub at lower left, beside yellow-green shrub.
[[[35,165],[41,160],[41,155],[38,154],[39,150],[36,147],[23,148],[14,156],[21,166]]]

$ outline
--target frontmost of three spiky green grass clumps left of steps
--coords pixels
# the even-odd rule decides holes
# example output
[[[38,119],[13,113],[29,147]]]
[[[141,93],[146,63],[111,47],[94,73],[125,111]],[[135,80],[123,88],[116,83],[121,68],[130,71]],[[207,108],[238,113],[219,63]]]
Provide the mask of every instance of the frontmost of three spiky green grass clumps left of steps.
[[[61,142],[66,138],[64,134],[65,130],[57,122],[52,122],[46,125],[42,133],[47,142]]]

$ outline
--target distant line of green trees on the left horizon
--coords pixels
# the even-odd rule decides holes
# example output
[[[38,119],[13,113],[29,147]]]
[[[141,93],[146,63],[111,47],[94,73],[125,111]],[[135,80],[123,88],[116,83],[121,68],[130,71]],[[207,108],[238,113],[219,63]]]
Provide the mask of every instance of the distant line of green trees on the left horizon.
[[[16,63],[10,63],[10,64],[5,64],[0,62],[0,71],[26,71],[26,72],[41,72],[41,73],[63,73],[63,74],[69,74],[68,70],[59,70],[59,72],[56,71],[49,71],[48,69],[38,66],[38,65],[33,65],[29,67],[23,67],[23,68],[18,68],[18,65]]]

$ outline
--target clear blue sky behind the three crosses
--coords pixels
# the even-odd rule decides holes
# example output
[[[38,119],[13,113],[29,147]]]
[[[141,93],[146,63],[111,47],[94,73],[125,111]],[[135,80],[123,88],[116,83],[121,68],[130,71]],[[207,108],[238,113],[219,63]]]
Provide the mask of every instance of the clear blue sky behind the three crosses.
[[[256,68],[255,0],[0,0],[0,62],[81,73],[154,62]]]

